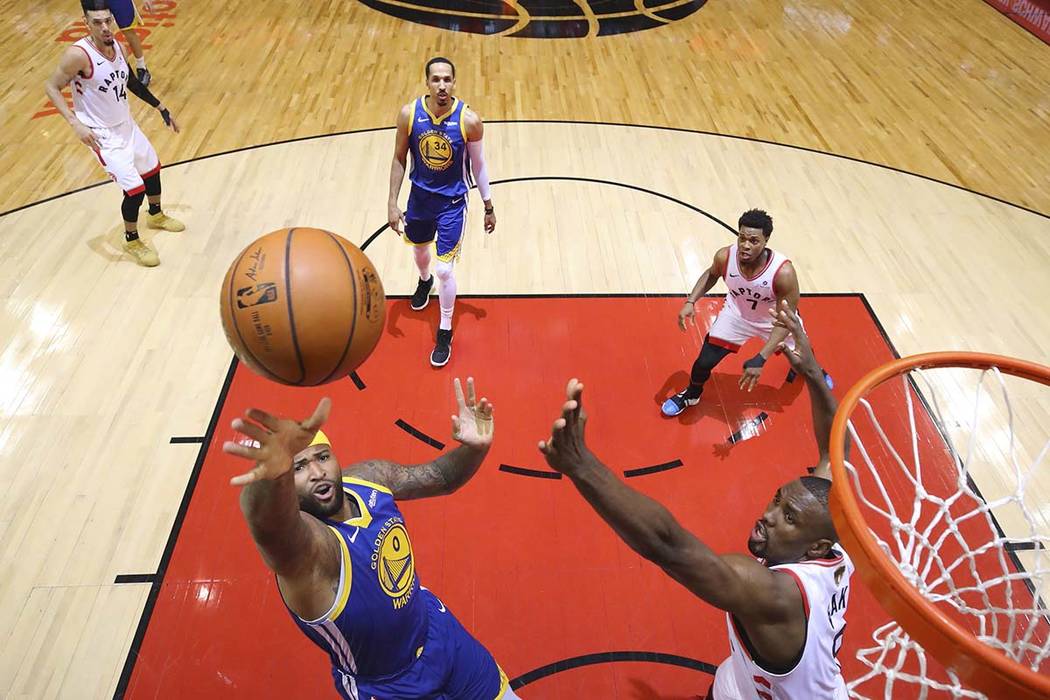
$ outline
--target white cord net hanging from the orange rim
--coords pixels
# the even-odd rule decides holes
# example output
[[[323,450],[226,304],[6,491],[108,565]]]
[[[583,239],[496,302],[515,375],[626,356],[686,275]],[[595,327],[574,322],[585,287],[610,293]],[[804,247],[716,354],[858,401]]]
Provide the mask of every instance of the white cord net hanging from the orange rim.
[[[1017,440],[1010,395],[1018,386],[1022,403],[1041,388],[994,367],[914,369],[876,386],[850,416],[846,472],[872,534],[905,578],[982,642],[1047,673],[1050,470],[1041,467],[1050,440],[1037,421],[1026,423],[1035,441]],[[985,697],[897,622],[872,641],[857,653],[853,698]]]

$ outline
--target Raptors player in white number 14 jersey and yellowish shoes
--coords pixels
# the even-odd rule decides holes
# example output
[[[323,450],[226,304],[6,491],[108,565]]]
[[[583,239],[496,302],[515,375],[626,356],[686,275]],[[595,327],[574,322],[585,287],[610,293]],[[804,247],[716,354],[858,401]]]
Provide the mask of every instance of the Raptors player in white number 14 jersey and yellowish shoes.
[[[124,250],[139,264],[160,264],[156,253],[139,238],[139,209],[149,198],[147,224],[151,229],[183,231],[185,226],[161,208],[161,162],[152,144],[139,129],[128,108],[127,93],[161,112],[164,123],[178,132],[178,123],[161,101],[139,82],[120,45],[113,40],[113,16],[106,0],[81,0],[88,36],[62,54],[46,83],[47,97],[66,119],[74,133],[88,146],[109,176],[124,190]],[[74,110],[62,90],[72,83]]]

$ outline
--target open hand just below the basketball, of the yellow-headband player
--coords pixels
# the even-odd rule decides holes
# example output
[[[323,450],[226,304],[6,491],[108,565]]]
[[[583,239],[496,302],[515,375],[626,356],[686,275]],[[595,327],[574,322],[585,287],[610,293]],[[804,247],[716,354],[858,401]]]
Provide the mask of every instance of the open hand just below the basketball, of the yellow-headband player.
[[[255,462],[255,468],[230,480],[232,486],[246,486],[254,482],[277,479],[291,471],[295,455],[310,447],[314,436],[324,425],[332,402],[321,399],[313,416],[304,421],[277,418],[258,408],[249,408],[244,418],[231,422],[234,430],[248,436],[253,443],[227,441],[223,451]]]

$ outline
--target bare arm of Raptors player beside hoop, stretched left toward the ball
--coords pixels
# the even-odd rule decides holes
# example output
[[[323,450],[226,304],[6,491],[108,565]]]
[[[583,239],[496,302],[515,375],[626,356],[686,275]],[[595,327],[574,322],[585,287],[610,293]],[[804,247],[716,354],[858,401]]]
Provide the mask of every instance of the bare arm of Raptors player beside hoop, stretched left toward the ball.
[[[562,417],[540,443],[547,463],[564,473],[631,549],[707,602],[741,619],[770,623],[797,613],[798,589],[748,556],[718,555],[667,508],[635,491],[594,457],[584,441],[583,385],[569,382]]]

